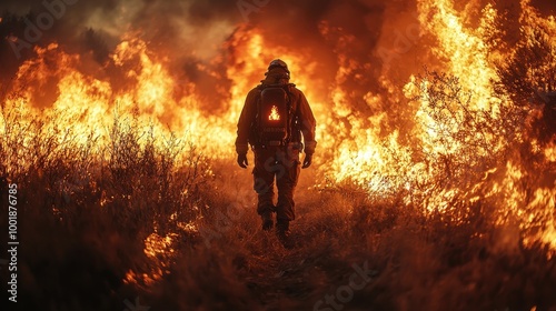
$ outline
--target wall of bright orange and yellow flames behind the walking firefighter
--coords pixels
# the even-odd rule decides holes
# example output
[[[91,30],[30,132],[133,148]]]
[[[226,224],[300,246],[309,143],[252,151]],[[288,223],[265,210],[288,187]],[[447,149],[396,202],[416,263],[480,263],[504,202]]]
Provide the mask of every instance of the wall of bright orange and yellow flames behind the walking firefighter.
[[[520,22],[544,24],[554,31],[554,17],[535,14],[525,0],[522,7]],[[221,74],[222,81],[231,81],[227,89],[215,86],[215,92],[227,94],[226,102],[215,103],[211,111],[206,111],[207,99],[200,87],[176,73],[156,47],[128,33],[110,54],[115,77],[105,74],[107,68],[98,69],[103,74],[83,70],[82,57],[57,43],[37,47],[36,58],[20,66],[10,84],[10,91],[18,96],[8,97],[2,107],[0,132],[7,134],[13,123],[10,112],[19,111],[23,116],[19,123],[22,128],[31,127],[40,116],[59,141],[71,137],[86,144],[93,137],[106,147],[111,139],[109,129],[120,118],[150,127],[159,137],[187,137],[207,157],[229,159],[245,97],[260,81],[268,61],[280,56],[317,117],[318,185],[328,185],[325,180],[353,181],[375,198],[403,193],[403,203],[420,204],[424,212],[443,212],[455,198],[475,202],[477,195],[484,194],[499,200],[494,204],[515,213],[524,228],[537,225],[527,241],[540,240],[556,250],[555,184],[520,188],[524,179],[534,179],[533,173],[519,167],[519,159],[503,163],[505,169],[480,179],[485,172],[496,171],[488,167],[489,160],[494,163],[493,158],[508,147],[505,136],[490,130],[493,123],[503,122],[502,113],[508,104],[523,104],[512,103],[495,91],[496,63],[513,53],[493,49],[489,43],[489,31],[496,28],[502,14],[487,4],[478,10],[478,26],[474,28],[468,24],[476,12],[473,6],[458,11],[454,1],[419,0],[417,9],[419,40],[424,40],[420,43],[430,48],[419,59],[434,59],[430,68],[448,76],[419,77],[420,69],[416,69],[399,82],[398,77],[384,70],[376,79],[377,86],[367,87],[360,80],[378,66],[376,60],[349,57],[357,38],[322,23],[320,34],[332,41],[331,54],[336,57],[336,63],[327,64],[336,70],[330,74],[332,81],[322,82],[310,50],[271,46],[264,32],[242,26],[225,43],[230,54],[215,60],[229,60],[226,72],[211,72],[209,64],[196,68],[208,77]],[[387,34],[391,33],[384,36]],[[408,63],[400,63],[399,68],[405,66]],[[276,106],[268,118],[280,120]],[[481,131],[470,130],[476,128]],[[524,140],[525,133],[513,134],[516,141]],[[32,138],[21,140],[29,144]],[[554,165],[554,144],[539,149],[537,153],[544,157],[544,163]],[[7,169],[12,169],[11,164]],[[542,223],[533,223],[530,220],[539,214]],[[168,243],[165,240],[157,248],[163,250]],[[152,245],[149,253],[155,255],[157,248]]]

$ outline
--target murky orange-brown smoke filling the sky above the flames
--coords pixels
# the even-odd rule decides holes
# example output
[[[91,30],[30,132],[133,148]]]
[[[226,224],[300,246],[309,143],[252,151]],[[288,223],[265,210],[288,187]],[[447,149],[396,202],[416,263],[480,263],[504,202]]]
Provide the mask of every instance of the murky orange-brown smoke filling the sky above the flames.
[[[227,60],[234,58],[230,56],[234,50],[226,49],[225,42],[239,26],[247,24],[262,33],[267,47],[304,56],[307,66],[314,68],[314,79],[324,81],[319,92],[326,93],[327,86],[336,84],[346,91],[355,111],[373,114],[385,108],[369,107],[361,99],[368,92],[385,92],[380,77],[387,74],[390,81],[405,83],[428,57],[426,38],[420,37],[417,22],[416,2],[4,0],[0,4],[0,79],[13,77],[22,61],[33,57],[33,46],[44,47],[53,41],[68,52],[79,53],[89,63],[86,67],[96,63],[107,68],[109,54],[126,33],[132,33],[148,42],[149,49],[161,59],[167,59],[180,81],[195,83],[199,98],[207,103],[205,108],[215,111],[228,100],[221,90],[229,89],[230,79],[241,79],[225,74]],[[459,3],[457,9],[474,6],[480,11],[486,2]],[[556,4],[546,2],[538,0],[533,4],[543,11],[554,10]],[[37,24],[38,17],[49,12],[46,3],[66,3],[64,12],[37,40],[28,40],[28,23]],[[519,8],[518,0],[496,3],[508,11]],[[29,47],[14,52],[10,43],[14,38],[27,40]],[[339,77],[340,67],[350,70]],[[215,86],[220,91],[215,92]]]

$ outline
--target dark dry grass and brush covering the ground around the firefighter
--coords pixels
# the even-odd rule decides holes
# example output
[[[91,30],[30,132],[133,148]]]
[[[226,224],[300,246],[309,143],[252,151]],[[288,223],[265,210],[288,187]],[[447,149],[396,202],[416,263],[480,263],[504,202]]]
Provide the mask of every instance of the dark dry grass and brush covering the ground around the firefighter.
[[[457,86],[445,76],[429,79],[437,90]],[[435,98],[431,113],[461,99],[448,94]],[[423,195],[410,203],[403,190],[369,197],[349,181],[307,190],[310,172],[304,171],[296,247],[287,250],[259,230],[250,174],[230,169],[231,161],[208,160],[172,134],[157,137],[133,116],[116,117],[102,144],[93,134],[77,143],[71,131],[51,128],[53,120],[6,107],[3,113],[2,195],[8,182],[20,189],[21,310],[123,310],[137,297],[150,310],[314,310],[348,284],[353,264],[364,262],[370,281],[344,310],[556,310],[556,259],[544,244],[525,245],[527,231],[518,222],[498,224],[504,198],[485,195],[485,171],[510,152],[500,151],[470,177],[485,161],[481,153],[434,163],[438,174],[429,182],[437,192],[484,182],[443,212],[424,213]],[[453,139],[465,140],[477,122],[489,121],[468,114],[465,132],[448,133]],[[522,150],[518,164],[529,171],[519,187],[530,192],[537,172],[554,171],[538,154]],[[468,200],[471,194],[478,199]],[[527,200],[533,198],[524,205]],[[152,233],[171,237],[166,251],[145,251]]]

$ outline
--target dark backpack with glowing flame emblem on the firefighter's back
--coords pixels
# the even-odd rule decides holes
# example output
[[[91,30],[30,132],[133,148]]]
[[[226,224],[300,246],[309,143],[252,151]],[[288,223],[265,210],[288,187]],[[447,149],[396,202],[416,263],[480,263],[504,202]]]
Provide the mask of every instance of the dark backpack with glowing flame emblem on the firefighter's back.
[[[295,84],[261,84],[257,116],[251,131],[256,146],[285,146],[291,141],[296,116],[291,111],[289,88]]]

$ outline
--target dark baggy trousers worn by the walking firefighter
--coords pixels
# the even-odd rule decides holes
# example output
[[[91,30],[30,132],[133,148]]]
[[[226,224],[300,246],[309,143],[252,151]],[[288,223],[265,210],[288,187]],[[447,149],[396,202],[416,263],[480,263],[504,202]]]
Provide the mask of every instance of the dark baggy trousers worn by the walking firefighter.
[[[276,219],[291,221],[296,218],[294,192],[299,178],[299,150],[288,147],[255,149],[254,189],[258,195],[257,213],[276,212]],[[278,202],[274,204],[275,180]]]

